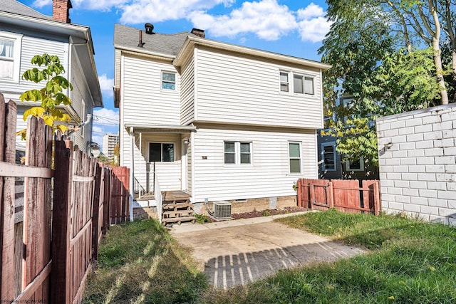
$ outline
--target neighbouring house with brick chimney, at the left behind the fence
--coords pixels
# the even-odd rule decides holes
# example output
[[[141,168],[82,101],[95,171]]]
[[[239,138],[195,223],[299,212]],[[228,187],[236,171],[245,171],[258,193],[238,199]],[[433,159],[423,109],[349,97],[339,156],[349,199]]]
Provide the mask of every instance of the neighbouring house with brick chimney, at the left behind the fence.
[[[88,120],[93,108],[103,107],[100,84],[93,59],[93,42],[88,26],[71,23],[69,0],[53,0],[53,16],[46,16],[15,0],[1,0],[0,5],[0,92],[5,100],[18,105],[18,130],[26,127],[22,113],[35,103],[21,103],[25,90],[42,88],[43,83],[22,80],[31,58],[48,53],[57,55],[65,68],[63,75],[73,84],[67,90],[72,104],[62,106],[71,116],[71,125]],[[81,150],[90,152],[92,121],[71,135]],[[18,142],[18,145],[25,145]]]

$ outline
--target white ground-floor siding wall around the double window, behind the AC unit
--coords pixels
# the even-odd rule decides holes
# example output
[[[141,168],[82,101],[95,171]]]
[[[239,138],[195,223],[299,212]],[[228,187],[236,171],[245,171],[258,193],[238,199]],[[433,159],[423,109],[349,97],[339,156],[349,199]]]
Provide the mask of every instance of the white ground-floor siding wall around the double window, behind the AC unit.
[[[224,141],[252,142],[252,164],[224,164]],[[289,173],[289,142],[301,142],[301,174]],[[194,202],[296,195],[299,177],[317,178],[316,132],[199,127],[192,142]],[[207,159],[204,159],[207,157]]]

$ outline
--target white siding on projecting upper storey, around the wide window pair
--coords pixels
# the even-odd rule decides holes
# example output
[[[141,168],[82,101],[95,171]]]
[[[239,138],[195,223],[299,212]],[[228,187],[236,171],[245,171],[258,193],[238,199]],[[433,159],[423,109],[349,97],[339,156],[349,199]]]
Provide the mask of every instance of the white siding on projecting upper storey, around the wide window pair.
[[[280,92],[279,70],[314,78],[314,95]],[[195,120],[321,128],[321,74],[258,58],[197,48]],[[289,81],[292,82],[292,79]]]

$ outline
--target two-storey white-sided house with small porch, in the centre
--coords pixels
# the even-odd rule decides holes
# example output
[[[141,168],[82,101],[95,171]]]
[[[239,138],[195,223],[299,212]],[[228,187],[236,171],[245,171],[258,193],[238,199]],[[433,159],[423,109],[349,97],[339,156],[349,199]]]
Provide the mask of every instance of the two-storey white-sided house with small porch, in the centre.
[[[321,73],[330,66],[209,40],[195,28],[152,29],[116,24],[114,32],[120,165],[137,187],[158,182],[193,204],[296,206],[294,182],[318,178]]]

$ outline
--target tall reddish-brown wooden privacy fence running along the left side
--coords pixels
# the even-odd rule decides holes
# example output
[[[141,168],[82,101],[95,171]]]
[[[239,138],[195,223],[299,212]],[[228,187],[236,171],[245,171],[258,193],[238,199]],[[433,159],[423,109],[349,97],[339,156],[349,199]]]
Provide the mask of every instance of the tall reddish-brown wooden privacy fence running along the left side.
[[[104,167],[36,117],[17,164],[16,119],[0,93],[0,299],[80,303],[101,237],[129,218],[128,168]]]

